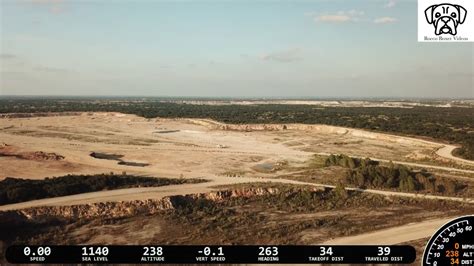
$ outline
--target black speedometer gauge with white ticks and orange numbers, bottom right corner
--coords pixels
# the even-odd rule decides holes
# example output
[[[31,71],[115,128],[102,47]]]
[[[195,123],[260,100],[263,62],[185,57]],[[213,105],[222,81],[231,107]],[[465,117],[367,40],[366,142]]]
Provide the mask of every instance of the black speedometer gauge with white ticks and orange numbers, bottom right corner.
[[[423,265],[474,265],[474,215],[443,225],[431,237],[423,254]]]

